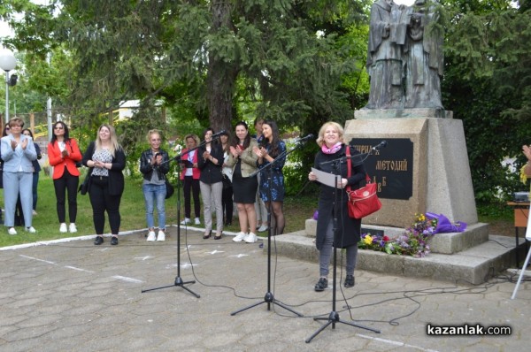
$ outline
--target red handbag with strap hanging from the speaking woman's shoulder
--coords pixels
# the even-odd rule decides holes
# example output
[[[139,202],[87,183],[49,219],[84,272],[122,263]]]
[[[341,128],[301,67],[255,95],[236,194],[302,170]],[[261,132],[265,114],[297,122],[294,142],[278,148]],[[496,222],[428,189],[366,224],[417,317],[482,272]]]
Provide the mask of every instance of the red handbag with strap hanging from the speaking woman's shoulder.
[[[351,172],[350,146],[347,146],[347,177],[350,178]],[[371,182],[371,178],[366,173],[366,186],[351,190],[350,186],[346,187],[349,195],[349,216],[350,218],[365,218],[381,209],[381,202],[376,194],[377,185]]]

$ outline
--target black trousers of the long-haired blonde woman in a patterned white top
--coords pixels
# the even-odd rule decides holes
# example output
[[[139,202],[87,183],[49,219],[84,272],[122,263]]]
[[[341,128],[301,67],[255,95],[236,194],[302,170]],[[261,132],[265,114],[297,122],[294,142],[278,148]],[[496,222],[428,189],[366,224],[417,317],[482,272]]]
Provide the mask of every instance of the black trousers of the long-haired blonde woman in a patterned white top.
[[[89,197],[96,234],[104,234],[105,211],[109,215],[111,233],[118,234],[121,220],[119,215],[121,195],[109,195],[109,180],[106,177],[92,176]]]

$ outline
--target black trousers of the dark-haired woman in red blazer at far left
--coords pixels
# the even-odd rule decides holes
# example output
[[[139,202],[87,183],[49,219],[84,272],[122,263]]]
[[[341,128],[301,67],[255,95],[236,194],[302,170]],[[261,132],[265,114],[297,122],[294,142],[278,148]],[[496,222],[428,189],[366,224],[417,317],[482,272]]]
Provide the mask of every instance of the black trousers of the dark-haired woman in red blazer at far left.
[[[71,223],[75,223],[77,218],[77,188],[80,184],[80,177],[73,176],[65,167],[65,172],[60,179],[53,180],[53,187],[56,191],[57,209],[59,223],[65,222],[65,199],[68,191],[68,218]]]

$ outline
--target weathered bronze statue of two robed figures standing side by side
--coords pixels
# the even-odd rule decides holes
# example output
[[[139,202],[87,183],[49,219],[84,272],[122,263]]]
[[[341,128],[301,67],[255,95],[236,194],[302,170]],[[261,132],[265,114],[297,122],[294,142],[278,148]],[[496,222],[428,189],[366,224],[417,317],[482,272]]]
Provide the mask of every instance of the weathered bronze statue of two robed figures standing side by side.
[[[434,26],[437,5],[435,0],[373,4],[366,63],[371,90],[364,109],[443,109],[444,38]]]

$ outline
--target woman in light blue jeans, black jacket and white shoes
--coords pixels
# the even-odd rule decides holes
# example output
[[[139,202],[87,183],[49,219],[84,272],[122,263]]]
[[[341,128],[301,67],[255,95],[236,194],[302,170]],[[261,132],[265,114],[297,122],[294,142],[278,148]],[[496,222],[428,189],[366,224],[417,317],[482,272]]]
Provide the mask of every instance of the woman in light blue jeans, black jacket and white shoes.
[[[168,153],[160,149],[162,138],[158,130],[148,132],[150,149],[142,152],[140,172],[143,175],[142,191],[146,204],[146,221],[150,232],[148,241],[165,241],[165,174],[170,171]],[[157,206],[158,233],[155,235],[154,207]]]

